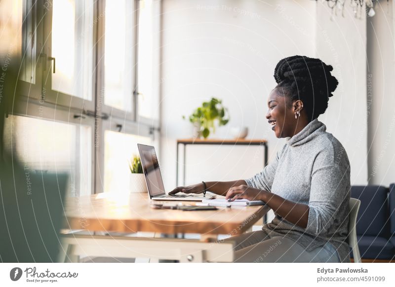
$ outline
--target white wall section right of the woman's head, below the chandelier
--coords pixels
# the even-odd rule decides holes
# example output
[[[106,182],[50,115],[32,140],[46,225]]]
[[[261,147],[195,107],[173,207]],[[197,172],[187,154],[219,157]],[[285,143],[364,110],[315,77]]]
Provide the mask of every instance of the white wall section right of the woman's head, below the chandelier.
[[[366,15],[354,17],[349,2],[344,16],[330,19],[326,1],[317,1],[316,56],[334,68],[339,81],[328,109],[319,117],[345,147],[351,183],[367,183]],[[376,16],[375,16],[376,17]]]

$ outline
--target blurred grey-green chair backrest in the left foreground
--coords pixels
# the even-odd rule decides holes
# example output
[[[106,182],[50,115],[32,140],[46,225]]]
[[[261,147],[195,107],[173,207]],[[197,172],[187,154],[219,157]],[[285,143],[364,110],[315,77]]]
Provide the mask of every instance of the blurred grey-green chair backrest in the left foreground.
[[[29,170],[0,164],[0,261],[57,262],[68,177]]]

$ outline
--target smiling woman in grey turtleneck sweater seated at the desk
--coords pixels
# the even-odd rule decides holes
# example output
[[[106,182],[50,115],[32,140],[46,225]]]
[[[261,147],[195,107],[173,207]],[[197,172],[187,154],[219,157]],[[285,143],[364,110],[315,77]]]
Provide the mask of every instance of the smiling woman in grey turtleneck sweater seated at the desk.
[[[286,143],[275,160],[250,179],[202,182],[171,193],[206,189],[229,200],[262,200],[275,212],[262,230],[241,234],[236,262],[350,262],[350,163],[342,144],[317,120],[338,81],[332,66],[293,56],[276,66],[266,118]]]

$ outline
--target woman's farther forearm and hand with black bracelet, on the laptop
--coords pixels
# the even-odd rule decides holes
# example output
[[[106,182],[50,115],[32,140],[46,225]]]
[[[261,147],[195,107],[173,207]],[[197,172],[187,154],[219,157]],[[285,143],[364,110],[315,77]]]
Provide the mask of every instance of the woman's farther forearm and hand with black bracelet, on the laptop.
[[[206,187],[207,190],[219,194],[219,195],[226,195],[226,192],[238,185],[243,185],[247,184],[245,180],[239,179],[239,180],[234,180],[234,181],[206,181]],[[204,184],[203,182],[189,185],[189,186],[178,186],[174,188],[172,191],[169,192],[169,194],[176,194],[177,192],[184,192],[184,193],[201,193],[204,190]]]

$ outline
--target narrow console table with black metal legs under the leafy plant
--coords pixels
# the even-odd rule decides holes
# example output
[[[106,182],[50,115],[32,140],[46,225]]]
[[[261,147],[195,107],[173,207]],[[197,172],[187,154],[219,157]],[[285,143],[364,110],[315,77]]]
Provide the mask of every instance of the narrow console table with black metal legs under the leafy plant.
[[[260,145],[264,148],[264,156],[263,156],[263,167],[268,164],[268,142],[266,140],[261,139],[180,139],[177,140],[177,160],[176,160],[176,185],[178,186],[178,157],[179,157],[179,145],[184,145],[184,157],[183,157],[183,180],[182,184],[185,185],[186,179],[186,150],[187,145],[189,144],[208,144],[208,145]]]

